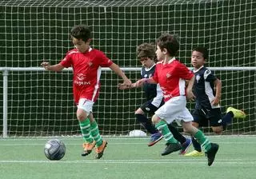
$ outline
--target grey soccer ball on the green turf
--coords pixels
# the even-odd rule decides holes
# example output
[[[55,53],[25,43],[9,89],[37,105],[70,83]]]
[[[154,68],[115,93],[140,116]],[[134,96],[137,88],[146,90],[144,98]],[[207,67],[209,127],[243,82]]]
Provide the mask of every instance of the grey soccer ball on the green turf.
[[[49,160],[58,161],[64,157],[66,146],[61,140],[51,139],[46,142],[44,153]]]

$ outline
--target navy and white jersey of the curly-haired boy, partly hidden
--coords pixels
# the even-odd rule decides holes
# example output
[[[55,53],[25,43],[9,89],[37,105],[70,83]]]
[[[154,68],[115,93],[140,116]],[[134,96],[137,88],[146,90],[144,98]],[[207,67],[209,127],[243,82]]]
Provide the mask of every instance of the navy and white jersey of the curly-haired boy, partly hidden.
[[[142,78],[152,77],[154,75],[154,70],[155,70],[155,64],[150,68],[146,68],[145,66],[142,66],[142,70],[141,70]],[[142,88],[146,94],[146,101],[154,99],[152,101],[152,104],[155,105],[156,107],[159,107],[162,101],[162,90],[159,84],[145,83]]]

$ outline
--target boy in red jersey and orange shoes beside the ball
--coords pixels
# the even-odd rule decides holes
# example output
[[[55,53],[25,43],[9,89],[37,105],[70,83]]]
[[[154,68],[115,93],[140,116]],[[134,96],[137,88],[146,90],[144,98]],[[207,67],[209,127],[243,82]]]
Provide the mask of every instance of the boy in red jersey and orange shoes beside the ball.
[[[90,47],[91,33],[88,26],[74,26],[70,31],[70,36],[74,50],[67,52],[66,57],[54,66],[50,66],[49,62],[42,62],[41,66],[50,71],[73,68],[74,102],[78,106],[77,118],[85,141],[82,156],[90,154],[95,146],[95,158],[99,159],[103,155],[107,142],[102,140],[92,108],[100,90],[101,67],[110,67],[123,79],[124,86],[130,86],[131,82],[119,66],[107,58],[102,51]]]

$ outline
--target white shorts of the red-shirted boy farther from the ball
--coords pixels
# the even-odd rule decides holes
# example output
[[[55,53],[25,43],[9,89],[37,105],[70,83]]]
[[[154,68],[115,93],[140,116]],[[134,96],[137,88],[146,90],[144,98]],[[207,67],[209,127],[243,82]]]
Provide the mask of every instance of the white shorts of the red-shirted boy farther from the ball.
[[[172,97],[166,101],[155,114],[165,120],[168,124],[174,120],[181,124],[181,121],[193,121],[193,117],[188,109],[186,109],[186,97]]]

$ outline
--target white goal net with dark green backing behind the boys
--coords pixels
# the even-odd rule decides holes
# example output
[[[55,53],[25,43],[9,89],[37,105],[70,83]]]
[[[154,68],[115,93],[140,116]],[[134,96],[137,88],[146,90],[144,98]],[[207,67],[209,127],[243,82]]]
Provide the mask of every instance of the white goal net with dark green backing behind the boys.
[[[87,24],[93,32],[91,45],[124,67],[132,82],[140,78],[136,46],[155,42],[163,32],[178,34],[178,58],[188,67],[192,48],[206,46],[210,50],[207,66],[222,80],[222,112],[233,106],[247,114],[244,120],[234,119],[225,133],[253,134],[255,6],[253,0],[2,0],[0,130],[6,128],[8,136],[80,134],[72,71],[54,73],[35,67],[42,59],[51,64],[60,62],[73,48],[70,29]],[[122,80],[107,69],[102,72],[101,82],[100,97],[94,104],[101,133],[126,135],[130,130],[142,129],[134,117],[134,111],[145,101],[142,90],[118,90]],[[193,106],[188,103],[187,107]],[[211,133],[209,128],[203,130]]]

